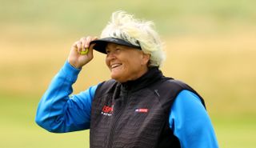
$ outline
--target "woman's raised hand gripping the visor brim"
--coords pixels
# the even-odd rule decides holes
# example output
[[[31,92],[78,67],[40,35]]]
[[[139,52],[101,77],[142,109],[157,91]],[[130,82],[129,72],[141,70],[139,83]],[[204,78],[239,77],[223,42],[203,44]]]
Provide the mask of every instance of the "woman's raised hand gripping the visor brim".
[[[94,41],[97,38],[92,38],[90,36],[81,38],[79,41],[74,42],[71,46],[70,55],[68,57],[68,62],[76,67],[82,68],[94,58],[93,47],[95,44],[90,45],[90,42]],[[85,51],[86,48],[89,48],[87,54],[80,54],[81,51]]]

